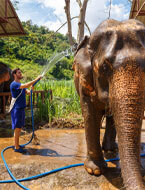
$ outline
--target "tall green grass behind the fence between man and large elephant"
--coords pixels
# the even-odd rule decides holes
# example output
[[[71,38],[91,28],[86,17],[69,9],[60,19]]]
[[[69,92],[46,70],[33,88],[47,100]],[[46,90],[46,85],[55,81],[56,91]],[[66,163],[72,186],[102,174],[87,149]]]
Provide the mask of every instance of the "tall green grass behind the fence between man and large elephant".
[[[50,100],[49,94],[46,94],[45,100],[39,101],[37,116],[40,120],[49,120],[53,118],[66,117],[70,113],[81,113],[79,96],[75,90],[73,80],[41,81],[36,85],[36,90],[52,90],[53,98]]]

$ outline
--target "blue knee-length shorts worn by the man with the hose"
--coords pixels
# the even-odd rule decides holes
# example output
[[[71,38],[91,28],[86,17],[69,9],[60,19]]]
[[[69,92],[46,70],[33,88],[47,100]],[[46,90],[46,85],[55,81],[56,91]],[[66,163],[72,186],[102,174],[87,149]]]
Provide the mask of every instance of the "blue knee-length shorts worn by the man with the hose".
[[[12,129],[22,128],[25,125],[25,109],[12,109],[11,119]]]

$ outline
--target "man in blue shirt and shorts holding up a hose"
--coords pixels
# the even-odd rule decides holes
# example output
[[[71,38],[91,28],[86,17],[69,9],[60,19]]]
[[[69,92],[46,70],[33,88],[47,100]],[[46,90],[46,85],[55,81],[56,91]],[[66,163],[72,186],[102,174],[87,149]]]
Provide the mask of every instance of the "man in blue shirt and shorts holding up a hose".
[[[26,93],[30,93],[26,88],[32,87],[32,85],[42,78],[38,76],[35,80],[21,84],[20,80],[23,78],[21,70],[16,68],[12,71],[12,76],[14,81],[10,85],[10,90],[13,98],[16,98],[16,102],[11,110],[12,119],[12,129],[14,129],[14,151],[24,152],[24,147],[19,145],[19,137],[21,133],[21,128],[25,124],[25,107],[26,107]]]

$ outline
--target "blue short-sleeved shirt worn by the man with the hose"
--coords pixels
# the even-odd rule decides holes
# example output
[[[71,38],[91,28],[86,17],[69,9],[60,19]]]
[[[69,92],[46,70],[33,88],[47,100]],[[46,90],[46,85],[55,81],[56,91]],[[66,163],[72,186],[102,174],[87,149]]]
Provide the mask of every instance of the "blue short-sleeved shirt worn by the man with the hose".
[[[20,89],[21,83],[13,81],[10,84],[10,90],[13,98],[17,98],[18,95],[21,93],[21,95],[17,98],[14,108],[25,108],[26,107],[26,89]]]

